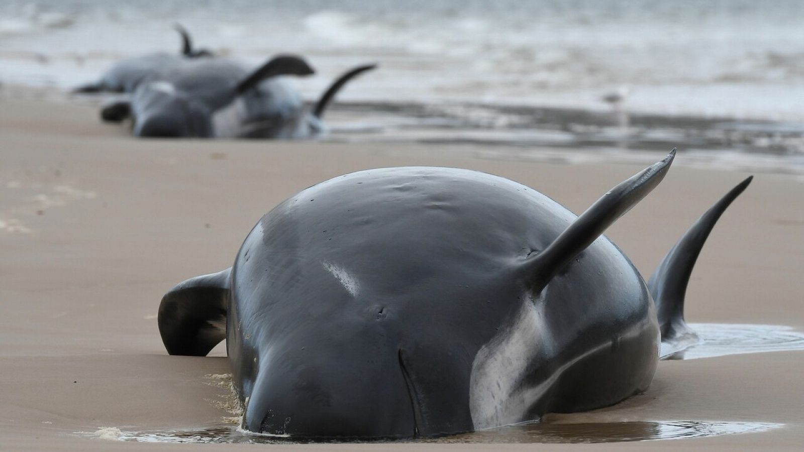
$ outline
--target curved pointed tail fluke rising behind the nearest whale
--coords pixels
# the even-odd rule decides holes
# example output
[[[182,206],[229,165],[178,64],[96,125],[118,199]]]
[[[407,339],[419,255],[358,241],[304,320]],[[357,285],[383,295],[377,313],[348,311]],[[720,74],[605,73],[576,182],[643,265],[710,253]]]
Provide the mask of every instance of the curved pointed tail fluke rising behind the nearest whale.
[[[749,186],[753,176],[739,183],[712,208],[704,213],[662,259],[654,273],[650,275],[648,289],[656,304],[662,342],[697,342],[697,335],[684,322],[684,294],[690,281],[692,267],[704,247],[704,242],[715,227],[715,223],[737,196]],[[683,345],[683,344],[682,344]],[[679,348],[675,347],[675,351]]]

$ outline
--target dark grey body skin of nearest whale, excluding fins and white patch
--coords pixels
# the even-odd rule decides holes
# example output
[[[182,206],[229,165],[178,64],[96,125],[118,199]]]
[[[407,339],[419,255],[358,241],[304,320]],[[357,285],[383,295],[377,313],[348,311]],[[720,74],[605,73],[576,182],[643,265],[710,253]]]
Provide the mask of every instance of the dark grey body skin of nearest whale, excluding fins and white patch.
[[[519,273],[528,253],[574,219],[507,179],[433,168],[363,171],[281,203],[232,268],[228,352],[250,397],[244,425],[315,436],[470,431],[474,358],[523,304],[553,326],[556,345],[522,384],[541,384],[590,348],[612,345],[564,372],[516,421],[646,389],[658,360],[655,314],[634,265],[609,240],[552,281],[546,299]],[[358,296],[322,261],[355,275]],[[420,406],[415,425],[404,373]]]

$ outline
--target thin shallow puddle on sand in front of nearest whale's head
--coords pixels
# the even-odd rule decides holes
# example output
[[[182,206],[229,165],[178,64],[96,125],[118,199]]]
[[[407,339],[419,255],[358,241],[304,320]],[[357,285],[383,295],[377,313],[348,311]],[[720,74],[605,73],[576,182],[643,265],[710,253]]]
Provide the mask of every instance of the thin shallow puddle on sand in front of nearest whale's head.
[[[763,432],[781,427],[765,422],[708,422],[708,421],[636,421],[585,424],[551,424],[533,422],[511,425],[482,432],[458,434],[443,438],[405,440],[394,443],[584,443],[631,442],[661,439],[712,437],[724,434]],[[291,438],[249,434],[236,427],[197,430],[166,430],[150,432],[120,432],[117,441],[179,442],[211,444],[288,444],[308,442]]]

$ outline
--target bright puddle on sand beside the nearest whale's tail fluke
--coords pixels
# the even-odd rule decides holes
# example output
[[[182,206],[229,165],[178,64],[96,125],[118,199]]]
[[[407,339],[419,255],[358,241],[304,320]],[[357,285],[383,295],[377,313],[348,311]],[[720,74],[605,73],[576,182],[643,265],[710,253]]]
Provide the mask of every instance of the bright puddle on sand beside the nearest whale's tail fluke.
[[[690,327],[698,333],[700,342],[676,353],[672,359],[697,360],[763,351],[804,350],[804,333],[783,325],[690,323]]]

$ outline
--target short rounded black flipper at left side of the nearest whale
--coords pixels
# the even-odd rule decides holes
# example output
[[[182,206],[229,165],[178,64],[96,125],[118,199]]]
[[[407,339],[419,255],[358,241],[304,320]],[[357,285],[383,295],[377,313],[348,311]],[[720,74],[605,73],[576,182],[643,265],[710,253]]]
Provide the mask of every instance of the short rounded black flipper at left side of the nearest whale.
[[[159,304],[159,334],[170,355],[206,356],[226,339],[228,268],[175,286]]]

